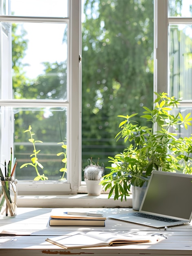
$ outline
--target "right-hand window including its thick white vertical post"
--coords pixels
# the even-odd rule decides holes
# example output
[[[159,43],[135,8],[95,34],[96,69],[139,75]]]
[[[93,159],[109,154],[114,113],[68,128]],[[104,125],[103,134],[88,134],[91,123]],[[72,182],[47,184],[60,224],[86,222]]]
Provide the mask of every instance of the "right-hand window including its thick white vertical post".
[[[187,115],[192,112],[192,4],[157,0],[154,10],[154,90],[182,98],[179,110]],[[184,132],[181,136],[192,133]]]

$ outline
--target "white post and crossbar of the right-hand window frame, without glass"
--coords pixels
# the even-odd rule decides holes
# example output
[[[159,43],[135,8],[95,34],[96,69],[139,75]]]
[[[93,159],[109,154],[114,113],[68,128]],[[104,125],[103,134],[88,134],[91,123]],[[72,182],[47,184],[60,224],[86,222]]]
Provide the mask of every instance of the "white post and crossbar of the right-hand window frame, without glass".
[[[168,93],[168,27],[170,24],[192,25],[192,17],[169,17],[168,0],[154,0],[154,91]],[[174,95],[171,95],[174,96]],[[180,106],[192,107],[192,100]]]

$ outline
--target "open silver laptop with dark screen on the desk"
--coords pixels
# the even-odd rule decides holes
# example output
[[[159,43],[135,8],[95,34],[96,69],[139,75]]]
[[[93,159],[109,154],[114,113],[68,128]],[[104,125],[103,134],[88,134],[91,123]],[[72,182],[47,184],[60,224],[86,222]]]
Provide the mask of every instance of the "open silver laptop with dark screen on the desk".
[[[107,216],[150,227],[187,224],[192,219],[192,175],[152,171],[139,211]]]

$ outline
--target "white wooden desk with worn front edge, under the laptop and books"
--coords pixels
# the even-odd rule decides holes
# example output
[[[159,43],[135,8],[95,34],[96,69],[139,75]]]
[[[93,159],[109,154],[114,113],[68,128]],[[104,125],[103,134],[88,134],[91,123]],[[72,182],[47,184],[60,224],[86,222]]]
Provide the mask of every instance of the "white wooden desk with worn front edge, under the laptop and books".
[[[18,208],[15,218],[0,219],[0,231],[29,231],[31,236],[0,236],[0,256],[38,255],[86,255],[86,256],[138,256],[138,255],[192,255],[192,224],[154,229],[142,225],[107,218],[106,227],[50,227],[48,220],[52,208]],[[70,209],[67,209],[70,210]],[[73,209],[74,210],[74,209]],[[88,209],[85,209],[88,210]],[[90,210],[90,209],[89,209]],[[124,213],[132,209],[93,209],[105,216]],[[119,234],[153,234],[161,232],[168,238],[157,244],[126,245],[119,247],[98,247],[92,249],[62,249],[46,242],[46,238],[68,234],[71,231],[104,230]]]

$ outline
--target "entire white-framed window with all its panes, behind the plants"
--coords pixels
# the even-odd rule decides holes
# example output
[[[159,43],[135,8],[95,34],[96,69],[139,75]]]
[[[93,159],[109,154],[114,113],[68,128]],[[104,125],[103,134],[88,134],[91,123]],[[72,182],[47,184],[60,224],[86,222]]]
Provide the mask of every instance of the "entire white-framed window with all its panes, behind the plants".
[[[191,112],[188,0],[0,3],[0,162],[12,147],[20,193],[86,192],[82,166],[90,157],[107,166],[123,150],[117,115],[151,108],[153,91],[183,97]],[[43,142],[35,143],[40,175],[20,168],[33,154],[29,126]],[[48,180],[33,180],[41,175]]]

